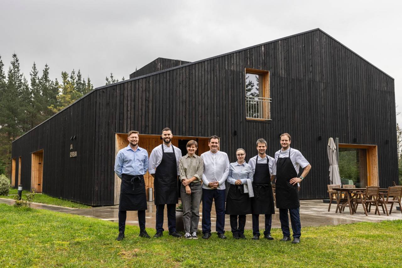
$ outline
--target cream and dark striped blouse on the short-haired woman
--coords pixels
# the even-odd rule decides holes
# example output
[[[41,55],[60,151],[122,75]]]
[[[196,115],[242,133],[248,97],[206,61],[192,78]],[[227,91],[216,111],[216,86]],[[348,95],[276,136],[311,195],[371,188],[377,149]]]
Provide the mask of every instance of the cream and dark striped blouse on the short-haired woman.
[[[204,161],[202,157],[198,155],[190,157],[189,154],[187,154],[180,157],[178,169],[180,172],[180,180],[196,177],[197,179],[193,182],[199,182],[204,173]]]

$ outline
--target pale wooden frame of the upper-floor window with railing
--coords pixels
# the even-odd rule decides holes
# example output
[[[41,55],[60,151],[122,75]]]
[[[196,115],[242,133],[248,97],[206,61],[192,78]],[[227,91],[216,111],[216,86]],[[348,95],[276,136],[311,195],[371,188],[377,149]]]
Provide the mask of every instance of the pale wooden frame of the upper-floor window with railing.
[[[261,82],[263,84],[262,90],[262,97],[263,98],[271,98],[271,91],[270,91],[270,79],[269,79],[269,71],[268,70],[260,70],[260,69],[253,69],[253,68],[245,68],[244,69],[244,93],[246,93],[246,76],[247,74],[257,74],[262,76],[260,79],[260,88],[258,89],[261,92]],[[247,104],[246,104],[247,107]],[[246,120],[247,121],[258,121],[258,122],[268,122],[272,121],[271,119],[271,103],[268,102],[267,105],[263,105],[262,109],[263,118],[248,118],[246,113]]]

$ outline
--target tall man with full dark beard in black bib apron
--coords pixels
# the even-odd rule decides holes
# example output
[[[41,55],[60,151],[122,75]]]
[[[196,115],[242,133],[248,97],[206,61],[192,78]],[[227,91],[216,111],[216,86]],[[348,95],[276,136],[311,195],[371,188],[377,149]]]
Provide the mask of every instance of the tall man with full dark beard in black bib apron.
[[[181,237],[176,232],[176,204],[178,204],[177,176],[179,173],[179,159],[181,150],[172,145],[172,130],[162,130],[163,144],[156,146],[150,155],[149,173],[154,177],[155,205],[156,205],[156,234],[163,235],[163,211],[165,204],[168,210],[169,235]]]

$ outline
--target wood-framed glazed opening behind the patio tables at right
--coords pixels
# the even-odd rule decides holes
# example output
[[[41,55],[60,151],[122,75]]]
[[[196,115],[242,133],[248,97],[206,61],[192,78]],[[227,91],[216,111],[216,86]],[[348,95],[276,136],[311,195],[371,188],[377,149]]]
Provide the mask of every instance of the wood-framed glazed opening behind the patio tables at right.
[[[377,145],[339,144],[338,162],[342,184],[378,186]]]

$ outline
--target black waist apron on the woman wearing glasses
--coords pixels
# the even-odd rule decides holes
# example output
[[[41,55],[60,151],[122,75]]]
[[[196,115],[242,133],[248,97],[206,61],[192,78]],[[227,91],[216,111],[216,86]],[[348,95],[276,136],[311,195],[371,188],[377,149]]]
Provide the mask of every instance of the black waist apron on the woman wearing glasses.
[[[244,185],[229,184],[228,196],[226,198],[227,215],[251,214],[251,198],[248,193],[244,194]]]

